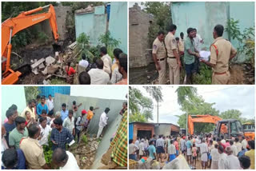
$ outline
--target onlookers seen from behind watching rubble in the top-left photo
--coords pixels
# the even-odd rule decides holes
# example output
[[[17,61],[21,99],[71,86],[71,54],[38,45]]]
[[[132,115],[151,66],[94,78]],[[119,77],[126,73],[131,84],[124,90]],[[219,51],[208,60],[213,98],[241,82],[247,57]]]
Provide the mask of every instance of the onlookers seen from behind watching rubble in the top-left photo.
[[[78,73],[78,83],[81,85],[127,85],[127,54],[118,48],[114,49],[113,54],[114,60],[103,46],[100,48],[101,58],[94,58],[93,62],[82,54],[76,70],[68,62],[65,69],[67,82],[73,84],[74,75]]]

